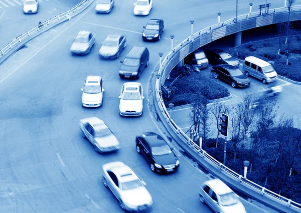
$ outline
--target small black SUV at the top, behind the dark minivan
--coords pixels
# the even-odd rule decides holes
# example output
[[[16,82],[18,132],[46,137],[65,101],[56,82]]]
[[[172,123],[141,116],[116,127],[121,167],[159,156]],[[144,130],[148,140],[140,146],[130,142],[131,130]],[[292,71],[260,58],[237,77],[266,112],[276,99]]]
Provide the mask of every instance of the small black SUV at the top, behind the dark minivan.
[[[162,19],[150,19],[143,28],[142,39],[144,41],[159,41],[164,32],[164,21]]]

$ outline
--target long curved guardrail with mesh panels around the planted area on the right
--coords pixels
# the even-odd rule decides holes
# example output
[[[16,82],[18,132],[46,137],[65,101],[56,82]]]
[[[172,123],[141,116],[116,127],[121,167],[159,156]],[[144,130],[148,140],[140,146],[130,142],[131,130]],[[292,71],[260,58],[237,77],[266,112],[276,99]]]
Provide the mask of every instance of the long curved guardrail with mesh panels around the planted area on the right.
[[[276,24],[280,22],[287,22],[288,19],[290,21],[301,20],[301,6],[293,6],[291,7],[290,17],[288,17],[288,9],[284,8],[277,8],[270,10],[268,14],[261,14],[251,13],[239,16],[237,18],[227,20],[223,23],[212,25],[210,27],[204,28],[197,33],[193,34],[192,36],[188,37],[186,40],[181,42],[177,47],[175,47],[162,62],[162,65],[158,71],[161,74],[161,85],[164,85],[164,82],[172,71],[172,69],[181,61],[183,60],[189,53],[194,52],[196,49],[214,41],[224,36],[248,30],[255,27],[261,27],[270,24]],[[235,171],[231,170],[230,168],[223,165],[221,162],[217,161],[215,158],[207,154],[203,149],[201,149],[194,141],[192,141],[178,126],[177,124],[171,119],[163,98],[162,98],[162,91],[160,91],[160,78],[156,80],[156,99],[159,104],[159,108],[172,127],[172,129],[181,135],[183,139],[186,141],[188,145],[190,145],[195,151],[197,151],[202,157],[206,158],[212,164],[214,164],[217,168],[224,170],[233,179],[236,179],[241,184],[251,188],[252,190],[266,195],[270,199],[277,201],[283,205],[289,206],[294,210],[301,211],[301,204],[292,201],[286,197],[283,197],[279,194],[274,193],[266,189],[263,186],[260,186],[248,179],[242,177],[242,175],[236,173]]]

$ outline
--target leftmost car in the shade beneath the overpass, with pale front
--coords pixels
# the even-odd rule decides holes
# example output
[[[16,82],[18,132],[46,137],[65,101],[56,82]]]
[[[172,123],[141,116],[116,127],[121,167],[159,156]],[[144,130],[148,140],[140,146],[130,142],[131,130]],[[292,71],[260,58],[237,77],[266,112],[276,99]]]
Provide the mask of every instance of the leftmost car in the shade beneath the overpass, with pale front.
[[[203,50],[196,50],[195,52],[190,53],[184,59],[185,64],[189,64],[193,67],[195,71],[200,72],[201,69],[208,67],[208,59]]]

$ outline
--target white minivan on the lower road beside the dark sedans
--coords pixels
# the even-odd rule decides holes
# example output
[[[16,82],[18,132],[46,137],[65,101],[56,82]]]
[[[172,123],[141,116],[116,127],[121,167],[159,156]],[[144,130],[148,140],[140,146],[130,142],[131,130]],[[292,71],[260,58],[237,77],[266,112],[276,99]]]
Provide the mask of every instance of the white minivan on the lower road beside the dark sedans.
[[[253,76],[261,80],[264,84],[274,82],[277,79],[277,73],[272,65],[254,56],[245,58],[243,72],[246,76]]]

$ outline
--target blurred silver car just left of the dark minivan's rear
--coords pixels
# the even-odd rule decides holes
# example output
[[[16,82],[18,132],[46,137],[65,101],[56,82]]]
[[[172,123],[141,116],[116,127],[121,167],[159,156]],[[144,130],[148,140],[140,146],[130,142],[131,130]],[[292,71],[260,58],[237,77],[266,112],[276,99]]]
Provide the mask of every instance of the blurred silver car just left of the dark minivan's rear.
[[[102,43],[98,55],[103,59],[118,58],[125,47],[126,37],[124,35],[109,35]]]

